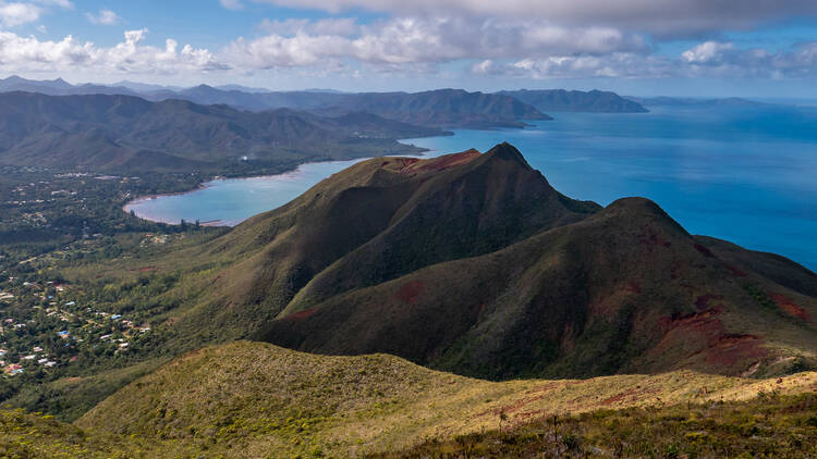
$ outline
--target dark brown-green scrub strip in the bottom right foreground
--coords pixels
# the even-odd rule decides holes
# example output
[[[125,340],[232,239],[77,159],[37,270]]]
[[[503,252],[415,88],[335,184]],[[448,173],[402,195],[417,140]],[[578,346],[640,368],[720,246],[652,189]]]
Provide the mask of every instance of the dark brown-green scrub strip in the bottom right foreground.
[[[803,458],[817,454],[817,395],[551,415],[371,458]]]

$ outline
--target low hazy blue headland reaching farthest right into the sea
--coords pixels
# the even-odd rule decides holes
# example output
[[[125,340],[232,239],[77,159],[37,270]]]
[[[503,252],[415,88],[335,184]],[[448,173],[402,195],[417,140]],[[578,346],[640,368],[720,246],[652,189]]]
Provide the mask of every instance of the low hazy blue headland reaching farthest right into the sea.
[[[545,112],[645,113],[641,103],[610,91],[564,89],[521,89],[497,94],[511,96]]]

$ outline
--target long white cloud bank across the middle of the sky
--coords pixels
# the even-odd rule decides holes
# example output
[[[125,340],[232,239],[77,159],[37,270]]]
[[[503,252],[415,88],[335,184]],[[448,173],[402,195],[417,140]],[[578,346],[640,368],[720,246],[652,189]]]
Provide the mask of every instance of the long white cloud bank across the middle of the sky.
[[[358,25],[350,18],[265,21],[268,35],[239,39],[223,59],[272,69],[355,60],[418,65],[459,59],[524,59],[553,54],[645,52],[643,37],[610,27],[563,27],[534,21],[397,17]]]

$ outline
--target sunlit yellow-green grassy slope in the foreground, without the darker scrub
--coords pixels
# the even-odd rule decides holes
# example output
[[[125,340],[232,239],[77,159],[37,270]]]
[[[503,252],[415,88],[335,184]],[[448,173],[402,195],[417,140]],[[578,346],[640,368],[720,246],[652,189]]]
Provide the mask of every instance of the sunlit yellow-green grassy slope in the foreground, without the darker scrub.
[[[756,381],[694,372],[492,383],[385,355],[327,357],[237,342],[183,356],[76,424],[208,456],[354,456],[496,429],[500,418],[514,425],[568,411],[798,394],[816,384],[816,373]]]

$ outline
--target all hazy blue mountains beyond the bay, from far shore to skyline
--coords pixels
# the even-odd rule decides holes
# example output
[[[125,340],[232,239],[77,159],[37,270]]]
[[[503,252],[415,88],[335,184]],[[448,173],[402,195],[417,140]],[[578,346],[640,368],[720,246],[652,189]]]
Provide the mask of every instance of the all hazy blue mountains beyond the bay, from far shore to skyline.
[[[307,161],[419,151],[397,139],[442,128],[522,127],[537,107],[646,111],[612,92],[254,91],[0,80],[0,164],[117,174],[253,174]],[[520,98],[532,103],[521,101]]]

